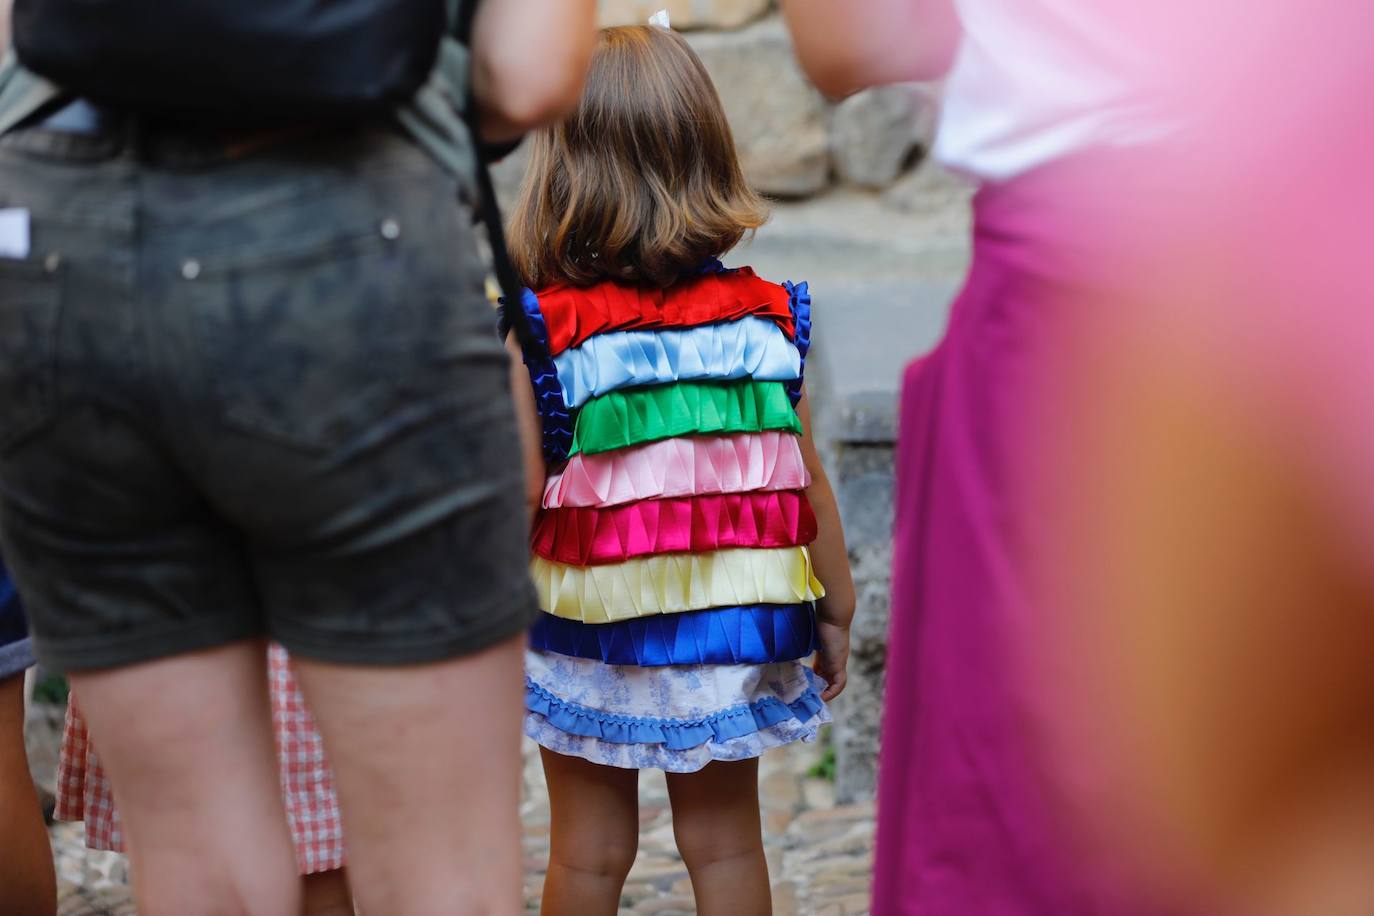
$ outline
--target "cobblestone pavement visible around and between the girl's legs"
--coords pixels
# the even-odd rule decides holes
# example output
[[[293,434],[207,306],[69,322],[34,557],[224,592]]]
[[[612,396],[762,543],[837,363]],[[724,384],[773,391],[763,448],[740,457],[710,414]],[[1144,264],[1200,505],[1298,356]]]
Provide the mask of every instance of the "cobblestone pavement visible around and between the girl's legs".
[[[760,791],[764,839],[774,878],[776,916],[849,916],[868,912],[872,867],[871,805],[834,803],[831,784],[808,776],[819,744],[794,744],[763,759]],[[525,901],[539,909],[548,857],[548,794],[539,755],[525,757]],[[621,916],[687,916],[695,912],[687,869],[673,847],[668,790],[661,773],[640,780],[639,858],[625,883]],[[122,856],[89,851],[78,824],[52,828],[60,884],[60,916],[136,916]]]

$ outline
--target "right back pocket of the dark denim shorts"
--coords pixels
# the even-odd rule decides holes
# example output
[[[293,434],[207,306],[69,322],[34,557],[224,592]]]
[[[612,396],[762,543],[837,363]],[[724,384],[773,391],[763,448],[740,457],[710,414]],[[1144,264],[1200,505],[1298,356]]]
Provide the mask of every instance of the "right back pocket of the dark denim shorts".
[[[383,218],[183,265],[225,424],[315,452],[386,434],[419,397],[427,361],[411,250],[397,235]]]

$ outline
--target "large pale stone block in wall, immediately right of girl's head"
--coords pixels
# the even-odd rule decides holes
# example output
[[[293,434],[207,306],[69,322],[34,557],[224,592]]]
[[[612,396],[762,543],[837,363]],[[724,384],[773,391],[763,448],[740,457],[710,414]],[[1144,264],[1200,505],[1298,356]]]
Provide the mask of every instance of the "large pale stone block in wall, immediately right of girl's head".
[[[779,16],[688,37],[725,106],[750,183],[785,198],[830,183],[827,104],[797,67]]]

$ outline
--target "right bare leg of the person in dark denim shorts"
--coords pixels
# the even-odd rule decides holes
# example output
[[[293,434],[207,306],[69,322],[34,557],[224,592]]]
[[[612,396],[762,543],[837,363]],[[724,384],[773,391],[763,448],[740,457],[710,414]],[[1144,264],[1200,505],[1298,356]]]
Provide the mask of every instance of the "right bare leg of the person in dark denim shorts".
[[[364,913],[514,916],[523,637],[434,665],[293,656],[334,766]]]

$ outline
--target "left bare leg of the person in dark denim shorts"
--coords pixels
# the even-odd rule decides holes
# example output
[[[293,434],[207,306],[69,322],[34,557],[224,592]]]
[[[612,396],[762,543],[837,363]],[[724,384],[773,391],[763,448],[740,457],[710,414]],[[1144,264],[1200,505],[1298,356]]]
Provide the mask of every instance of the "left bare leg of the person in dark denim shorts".
[[[260,641],[71,676],[143,916],[297,916]]]

